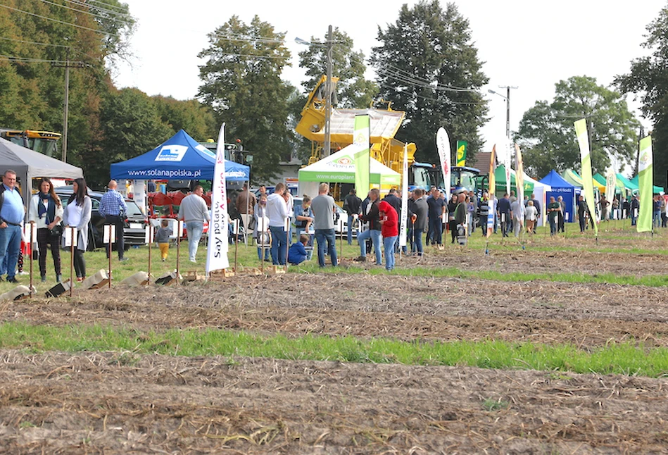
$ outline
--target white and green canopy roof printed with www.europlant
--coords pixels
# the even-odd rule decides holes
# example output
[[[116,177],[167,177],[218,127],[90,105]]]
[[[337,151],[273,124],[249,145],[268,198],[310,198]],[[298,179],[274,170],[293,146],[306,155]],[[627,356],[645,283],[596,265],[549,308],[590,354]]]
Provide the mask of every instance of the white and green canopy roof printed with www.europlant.
[[[298,173],[300,194],[317,196],[317,185],[320,182],[355,183],[354,155],[360,150],[362,146],[351,144],[317,163],[301,168]],[[370,160],[369,182],[372,185],[401,185],[399,173],[374,158]]]

